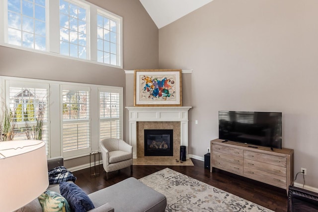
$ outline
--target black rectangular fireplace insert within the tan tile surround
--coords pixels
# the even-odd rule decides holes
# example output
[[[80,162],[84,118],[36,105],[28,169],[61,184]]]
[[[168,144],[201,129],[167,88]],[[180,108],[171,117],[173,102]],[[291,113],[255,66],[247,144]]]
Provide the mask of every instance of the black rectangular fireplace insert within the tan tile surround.
[[[173,130],[144,130],[145,156],[173,156]]]

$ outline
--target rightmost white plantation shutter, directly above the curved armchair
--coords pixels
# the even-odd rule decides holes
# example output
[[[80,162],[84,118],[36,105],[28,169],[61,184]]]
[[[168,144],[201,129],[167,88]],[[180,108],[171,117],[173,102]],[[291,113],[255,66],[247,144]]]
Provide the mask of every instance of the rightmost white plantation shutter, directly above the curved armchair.
[[[122,89],[99,90],[100,140],[122,139]]]

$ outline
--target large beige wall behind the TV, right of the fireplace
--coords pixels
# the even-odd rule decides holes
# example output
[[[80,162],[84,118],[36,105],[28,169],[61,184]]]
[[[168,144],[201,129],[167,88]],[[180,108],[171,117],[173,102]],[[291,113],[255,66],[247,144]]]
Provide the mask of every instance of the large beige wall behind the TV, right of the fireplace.
[[[318,188],[317,10],[317,0],[214,0],[159,29],[159,68],[193,69],[189,154],[218,138],[219,110],[282,112],[295,175],[307,168]]]

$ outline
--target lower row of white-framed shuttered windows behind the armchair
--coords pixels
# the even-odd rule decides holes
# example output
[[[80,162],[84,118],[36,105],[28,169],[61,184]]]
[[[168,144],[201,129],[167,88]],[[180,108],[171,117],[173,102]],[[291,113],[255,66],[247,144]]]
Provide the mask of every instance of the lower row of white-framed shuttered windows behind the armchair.
[[[89,155],[101,139],[123,138],[122,87],[0,76],[0,100],[0,125],[8,111],[14,126],[0,138],[42,140],[48,157]]]

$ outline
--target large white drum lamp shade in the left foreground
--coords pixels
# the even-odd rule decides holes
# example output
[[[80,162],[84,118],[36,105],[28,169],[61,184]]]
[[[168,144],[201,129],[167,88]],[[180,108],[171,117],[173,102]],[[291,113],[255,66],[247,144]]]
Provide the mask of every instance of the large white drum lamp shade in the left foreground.
[[[45,143],[0,142],[0,211],[12,212],[39,197],[48,187]]]

